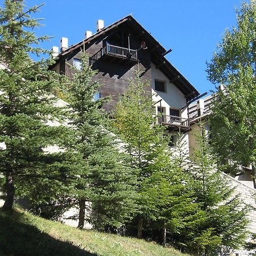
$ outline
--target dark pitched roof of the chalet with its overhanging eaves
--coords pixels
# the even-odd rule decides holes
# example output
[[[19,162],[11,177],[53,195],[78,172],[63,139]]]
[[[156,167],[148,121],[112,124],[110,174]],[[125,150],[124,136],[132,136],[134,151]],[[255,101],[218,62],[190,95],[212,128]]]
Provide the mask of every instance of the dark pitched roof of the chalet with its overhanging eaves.
[[[131,15],[127,15],[124,18],[114,22],[108,27],[102,28],[102,30],[96,32],[96,34],[90,36],[87,39],[83,39],[81,42],[74,44],[65,51],[61,52],[57,57],[59,59],[67,59],[74,52],[79,52],[82,47],[90,42],[98,39],[100,36],[107,34],[114,28],[117,28],[123,23],[128,23],[129,27],[137,32],[137,35],[141,35],[143,40],[147,43],[147,48],[151,52],[152,63],[156,65],[173,82],[177,88],[186,96],[187,100],[199,96],[197,89],[172,65],[163,54],[166,49],[155,40],[155,38],[148,33]]]

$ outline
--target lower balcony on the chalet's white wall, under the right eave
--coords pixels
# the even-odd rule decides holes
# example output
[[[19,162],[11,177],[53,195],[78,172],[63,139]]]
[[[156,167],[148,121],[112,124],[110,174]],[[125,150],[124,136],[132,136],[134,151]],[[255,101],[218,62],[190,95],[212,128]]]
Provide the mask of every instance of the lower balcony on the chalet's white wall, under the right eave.
[[[158,118],[158,122],[167,125],[171,131],[188,131],[190,129],[188,118],[176,117],[175,115],[162,114]]]

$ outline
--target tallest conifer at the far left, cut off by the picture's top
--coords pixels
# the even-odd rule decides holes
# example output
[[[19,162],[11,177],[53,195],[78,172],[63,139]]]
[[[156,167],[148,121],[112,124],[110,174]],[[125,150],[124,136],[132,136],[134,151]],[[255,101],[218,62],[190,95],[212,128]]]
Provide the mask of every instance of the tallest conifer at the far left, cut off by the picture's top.
[[[61,152],[48,154],[48,146],[59,145],[65,127],[64,108],[52,92],[58,76],[47,70],[52,59],[34,62],[31,55],[49,53],[38,45],[48,36],[37,37],[38,19],[31,18],[40,6],[24,9],[24,1],[6,0],[0,9],[0,174],[5,179],[3,209],[13,208],[15,192],[27,195],[36,184],[51,183],[58,189]],[[43,150],[44,148],[44,150]],[[63,176],[64,173],[62,174]],[[47,193],[47,191],[44,191]]]

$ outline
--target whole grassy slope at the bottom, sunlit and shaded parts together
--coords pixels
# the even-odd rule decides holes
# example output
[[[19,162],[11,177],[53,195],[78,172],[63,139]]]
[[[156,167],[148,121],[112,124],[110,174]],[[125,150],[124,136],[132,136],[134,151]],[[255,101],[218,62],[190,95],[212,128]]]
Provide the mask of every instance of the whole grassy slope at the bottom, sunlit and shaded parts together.
[[[0,255],[185,256],[153,242],[93,230],[78,230],[24,210],[0,210]]]

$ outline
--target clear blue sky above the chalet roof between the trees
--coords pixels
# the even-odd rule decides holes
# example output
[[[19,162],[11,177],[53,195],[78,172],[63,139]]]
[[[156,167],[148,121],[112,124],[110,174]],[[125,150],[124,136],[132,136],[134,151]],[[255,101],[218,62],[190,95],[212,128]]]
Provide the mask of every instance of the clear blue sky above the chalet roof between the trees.
[[[167,59],[204,93],[214,89],[205,61],[211,59],[225,28],[236,26],[235,7],[242,0],[28,0],[27,5],[42,2],[46,5],[36,16],[45,18],[45,26],[37,34],[55,36],[43,47],[59,47],[61,37],[75,44],[86,30],[96,32],[98,19],[108,26],[133,14],[164,48],[173,49]]]

